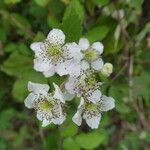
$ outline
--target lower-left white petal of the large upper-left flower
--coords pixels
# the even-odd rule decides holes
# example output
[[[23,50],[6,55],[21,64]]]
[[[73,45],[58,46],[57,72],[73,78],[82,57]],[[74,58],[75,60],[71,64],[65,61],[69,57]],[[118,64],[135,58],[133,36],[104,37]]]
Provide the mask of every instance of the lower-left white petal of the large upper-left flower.
[[[38,58],[34,59],[34,69],[36,71],[40,71],[40,72],[48,71],[50,68],[51,66],[48,61],[46,62]]]

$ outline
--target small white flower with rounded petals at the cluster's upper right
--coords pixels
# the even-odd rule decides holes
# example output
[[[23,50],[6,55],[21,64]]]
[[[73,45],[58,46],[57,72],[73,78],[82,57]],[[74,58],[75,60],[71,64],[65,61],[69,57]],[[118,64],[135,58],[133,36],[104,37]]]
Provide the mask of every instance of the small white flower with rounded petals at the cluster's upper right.
[[[103,60],[101,54],[103,53],[104,46],[100,42],[95,42],[90,46],[88,39],[81,38],[79,46],[84,54],[84,59],[91,68],[100,70],[103,67]]]

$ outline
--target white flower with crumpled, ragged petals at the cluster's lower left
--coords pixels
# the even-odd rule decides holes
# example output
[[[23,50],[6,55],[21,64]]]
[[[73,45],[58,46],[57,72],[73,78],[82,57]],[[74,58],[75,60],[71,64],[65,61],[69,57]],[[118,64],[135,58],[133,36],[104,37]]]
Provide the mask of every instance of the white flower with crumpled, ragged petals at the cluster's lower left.
[[[64,112],[65,97],[59,87],[54,83],[54,95],[48,93],[47,84],[28,82],[30,94],[25,99],[25,106],[29,109],[34,108],[37,118],[42,121],[42,126],[50,123],[62,124],[66,119]]]

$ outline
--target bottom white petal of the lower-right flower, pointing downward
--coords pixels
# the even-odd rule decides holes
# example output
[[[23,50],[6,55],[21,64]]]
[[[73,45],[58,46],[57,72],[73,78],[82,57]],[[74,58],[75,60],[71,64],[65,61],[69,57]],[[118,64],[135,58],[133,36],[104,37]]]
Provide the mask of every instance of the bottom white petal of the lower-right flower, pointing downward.
[[[92,129],[97,129],[101,120],[101,114],[93,116],[92,118],[86,118],[86,123]]]

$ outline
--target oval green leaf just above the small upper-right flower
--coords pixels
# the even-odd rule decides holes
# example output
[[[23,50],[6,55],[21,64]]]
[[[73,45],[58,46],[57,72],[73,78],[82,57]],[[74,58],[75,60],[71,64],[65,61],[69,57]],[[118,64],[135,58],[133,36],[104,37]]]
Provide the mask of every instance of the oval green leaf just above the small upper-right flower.
[[[97,26],[89,30],[85,34],[85,37],[88,38],[90,42],[101,41],[106,37],[108,32],[109,28],[107,26]]]

